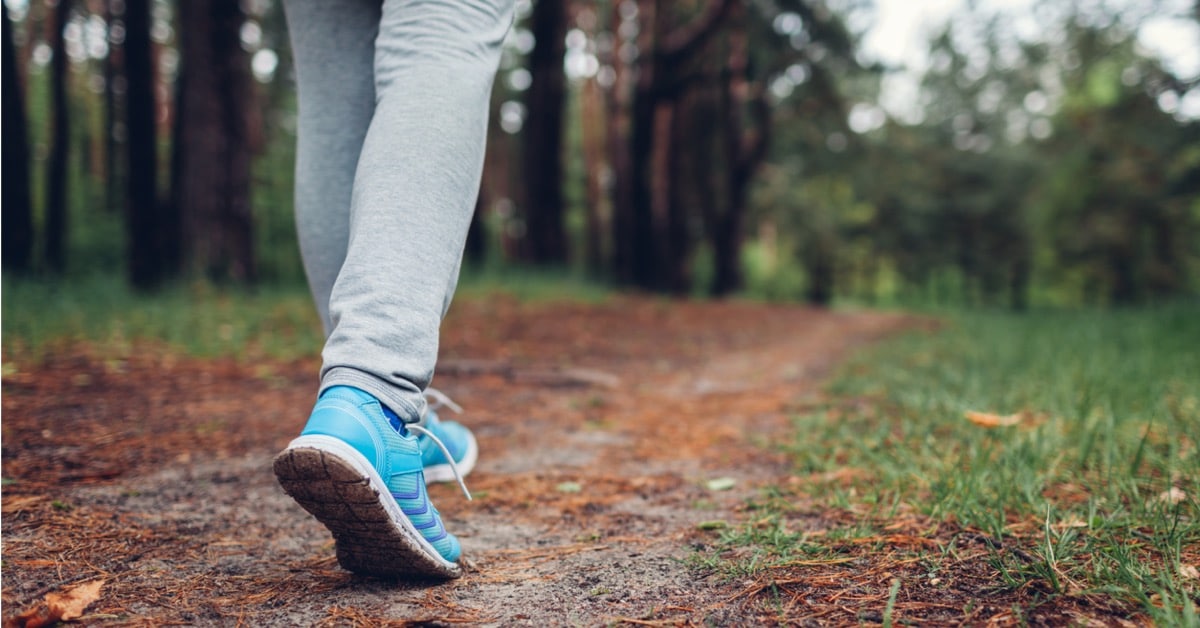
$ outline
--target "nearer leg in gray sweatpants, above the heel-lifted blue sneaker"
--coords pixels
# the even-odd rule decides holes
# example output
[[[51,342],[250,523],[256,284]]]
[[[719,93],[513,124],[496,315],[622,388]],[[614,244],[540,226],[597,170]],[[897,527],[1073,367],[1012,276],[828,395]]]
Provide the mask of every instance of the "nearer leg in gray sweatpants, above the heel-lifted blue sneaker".
[[[376,108],[359,156],[322,389],[425,408],[474,211],[487,106],[512,0],[385,0]]]

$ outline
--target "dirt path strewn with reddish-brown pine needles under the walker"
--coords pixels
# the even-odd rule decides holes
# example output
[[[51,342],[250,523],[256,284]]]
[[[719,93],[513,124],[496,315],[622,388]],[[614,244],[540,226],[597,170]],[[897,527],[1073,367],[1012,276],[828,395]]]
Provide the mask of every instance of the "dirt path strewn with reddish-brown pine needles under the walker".
[[[738,623],[736,585],[684,563],[788,474],[768,447],[846,353],[900,317],[622,298],[456,305],[436,385],[467,408],[467,502],[433,490],[470,573],[342,572],[270,473],[316,360],[80,349],[4,381],[5,616],[106,580],[96,623]],[[732,480],[712,490],[709,480]]]

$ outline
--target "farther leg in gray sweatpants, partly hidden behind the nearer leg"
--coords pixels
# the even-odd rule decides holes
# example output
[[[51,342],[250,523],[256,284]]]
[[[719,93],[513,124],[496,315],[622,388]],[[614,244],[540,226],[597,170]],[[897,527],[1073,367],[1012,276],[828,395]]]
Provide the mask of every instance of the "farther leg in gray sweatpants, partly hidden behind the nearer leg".
[[[295,220],[305,274],[328,336],[329,294],[346,261],[350,195],[374,114],[378,0],[287,0],[299,102]]]

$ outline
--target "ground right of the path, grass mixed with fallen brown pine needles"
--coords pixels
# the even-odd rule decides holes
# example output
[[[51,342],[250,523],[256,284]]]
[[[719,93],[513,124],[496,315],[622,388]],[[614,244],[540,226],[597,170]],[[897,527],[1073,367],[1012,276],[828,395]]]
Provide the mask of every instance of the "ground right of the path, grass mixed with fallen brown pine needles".
[[[868,349],[694,564],[781,620],[1200,626],[1198,348],[1180,305],[961,313]]]

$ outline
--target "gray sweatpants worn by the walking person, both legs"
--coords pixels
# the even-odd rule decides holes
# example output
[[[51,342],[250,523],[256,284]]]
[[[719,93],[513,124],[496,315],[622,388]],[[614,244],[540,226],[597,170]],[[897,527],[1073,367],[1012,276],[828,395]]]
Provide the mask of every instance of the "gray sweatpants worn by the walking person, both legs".
[[[295,215],[325,325],[320,389],[425,411],[479,193],[514,0],[286,0]]]

